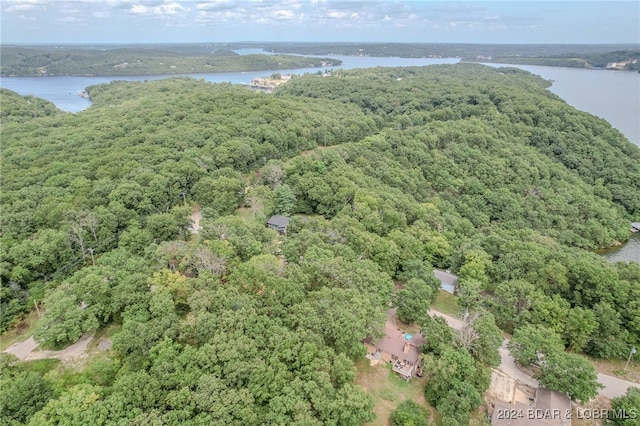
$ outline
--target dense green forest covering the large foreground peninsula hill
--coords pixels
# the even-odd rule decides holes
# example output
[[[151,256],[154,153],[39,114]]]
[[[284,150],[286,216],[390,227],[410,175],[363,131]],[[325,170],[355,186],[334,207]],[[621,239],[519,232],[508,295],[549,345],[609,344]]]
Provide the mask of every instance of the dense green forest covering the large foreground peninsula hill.
[[[80,371],[2,354],[2,422],[362,424],[354,362],[390,304],[427,337],[442,424],[482,404],[502,331],[542,384],[592,398],[582,354],[640,344],[640,265],[593,252],[640,217],[640,148],[548,84],[477,64],[272,94],[117,81],[77,114],[2,90],[0,325],[36,301],[47,347],[113,333]],[[473,343],[427,314],[433,267],[460,276]]]

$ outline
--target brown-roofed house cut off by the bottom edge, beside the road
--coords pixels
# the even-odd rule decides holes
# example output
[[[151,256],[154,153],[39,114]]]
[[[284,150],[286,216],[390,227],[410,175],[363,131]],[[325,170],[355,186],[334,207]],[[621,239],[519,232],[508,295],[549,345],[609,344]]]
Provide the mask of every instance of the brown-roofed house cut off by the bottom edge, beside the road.
[[[571,426],[571,400],[559,392],[538,388],[530,404],[496,400],[491,424],[497,426]]]

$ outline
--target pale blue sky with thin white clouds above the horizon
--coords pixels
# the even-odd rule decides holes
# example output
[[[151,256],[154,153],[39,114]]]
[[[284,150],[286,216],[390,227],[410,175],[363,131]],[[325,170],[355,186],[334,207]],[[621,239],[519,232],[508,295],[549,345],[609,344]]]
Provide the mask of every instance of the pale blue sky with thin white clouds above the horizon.
[[[640,43],[635,1],[0,0],[2,43]]]

